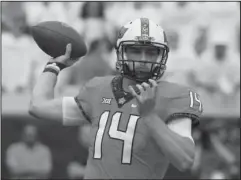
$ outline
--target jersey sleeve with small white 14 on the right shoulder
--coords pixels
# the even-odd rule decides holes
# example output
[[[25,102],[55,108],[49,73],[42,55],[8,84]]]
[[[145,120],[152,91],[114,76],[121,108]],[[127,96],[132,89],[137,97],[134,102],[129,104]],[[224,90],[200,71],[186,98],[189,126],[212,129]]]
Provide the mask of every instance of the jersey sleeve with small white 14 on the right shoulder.
[[[168,98],[166,102],[166,123],[177,118],[188,117],[192,119],[194,126],[199,124],[203,112],[203,104],[200,96],[191,90],[186,90],[177,96]]]

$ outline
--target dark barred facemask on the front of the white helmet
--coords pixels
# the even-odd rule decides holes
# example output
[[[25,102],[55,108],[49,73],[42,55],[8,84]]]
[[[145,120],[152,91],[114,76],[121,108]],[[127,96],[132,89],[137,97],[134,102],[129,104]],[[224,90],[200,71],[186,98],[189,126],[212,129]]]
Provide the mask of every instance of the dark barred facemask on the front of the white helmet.
[[[158,54],[154,60],[130,59],[126,52],[129,47],[156,49]],[[148,79],[158,80],[164,74],[169,51],[165,44],[151,41],[122,41],[116,49],[118,58],[116,67],[124,77],[142,83]]]

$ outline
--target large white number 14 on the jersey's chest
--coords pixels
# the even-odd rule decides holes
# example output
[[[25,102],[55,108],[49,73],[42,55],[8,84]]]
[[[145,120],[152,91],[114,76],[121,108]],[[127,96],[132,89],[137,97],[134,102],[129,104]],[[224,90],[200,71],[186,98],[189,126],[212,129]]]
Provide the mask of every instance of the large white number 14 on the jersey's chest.
[[[106,129],[107,121],[110,115],[110,111],[105,111],[100,116],[99,121],[99,129],[96,133],[95,137],[95,146],[94,146],[94,158],[95,159],[101,159],[102,157],[102,141],[103,141],[103,135]],[[134,133],[136,129],[136,124],[139,116],[136,115],[130,115],[127,130],[125,132],[118,130],[118,125],[120,122],[122,112],[116,112],[112,115],[111,118],[111,125],[108,131],[108,134],[110,138],[122,140],[123,148],[122,148],[122,163],[123,164],[130,164],[131,163],[131,153],[132,153],[132,146],[133,146],[133,139],[134,139]]]

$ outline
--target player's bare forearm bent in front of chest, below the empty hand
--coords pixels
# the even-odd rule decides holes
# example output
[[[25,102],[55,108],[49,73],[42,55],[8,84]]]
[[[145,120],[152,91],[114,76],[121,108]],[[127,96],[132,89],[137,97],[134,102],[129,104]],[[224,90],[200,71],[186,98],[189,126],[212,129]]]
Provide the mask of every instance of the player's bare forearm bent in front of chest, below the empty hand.
[[[171,131],[157,115],[146,118],[152,137],[170,162],[180,171],[191,168],[195,156],[194,144]]]

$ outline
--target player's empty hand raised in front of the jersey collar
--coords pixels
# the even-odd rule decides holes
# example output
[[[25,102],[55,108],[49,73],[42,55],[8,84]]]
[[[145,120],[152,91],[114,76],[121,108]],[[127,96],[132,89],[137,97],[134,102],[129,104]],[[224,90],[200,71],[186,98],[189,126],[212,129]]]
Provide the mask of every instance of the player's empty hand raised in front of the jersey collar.
[[[149,84],[143,82],[141,85],[136,85],[139,92],[136,92],[133,87],[129,86],[131,94],[136,97],[139,103],[138,110],[141,116],[148,115],[155,107],[157,83],[153,79],[149,79],[148,81]]]

